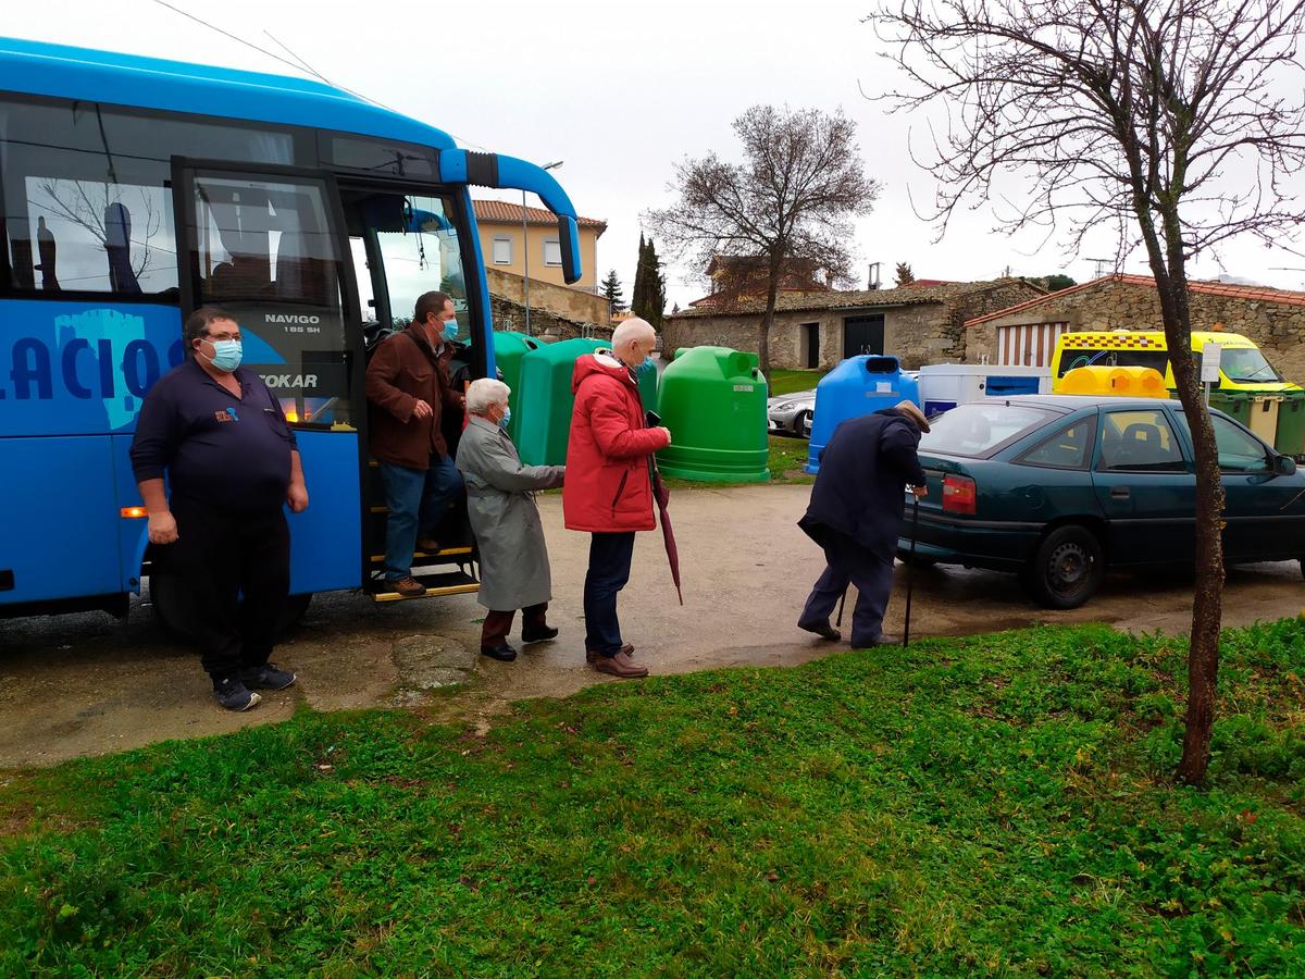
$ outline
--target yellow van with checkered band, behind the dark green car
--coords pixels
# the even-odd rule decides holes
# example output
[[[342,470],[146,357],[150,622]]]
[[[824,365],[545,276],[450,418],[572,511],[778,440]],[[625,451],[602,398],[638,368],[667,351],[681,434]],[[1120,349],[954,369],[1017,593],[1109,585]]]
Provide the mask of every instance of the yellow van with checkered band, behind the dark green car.
[[[1248,394],[1274,394],[1301,390],[1274,368],[1259,347],[1240,333],[1191,334],[1191,350],[1198,355],[1206,343],[1223,347],[1219,358],[1219,390]],[[1088,330],[1062,333],[1052,354],[1052,390],[1060,393],[1062,379],[1075,367],[1150,367],[1164,375],[1173,389],[1173,369],[1164,330]]]

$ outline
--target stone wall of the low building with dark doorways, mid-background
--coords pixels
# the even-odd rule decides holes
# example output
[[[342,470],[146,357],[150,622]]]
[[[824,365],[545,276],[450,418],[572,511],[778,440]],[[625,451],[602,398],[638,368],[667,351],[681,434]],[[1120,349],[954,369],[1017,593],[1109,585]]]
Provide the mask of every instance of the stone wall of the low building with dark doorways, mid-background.
[[[821,369],[843,359],[843,321],[852,316],[883,315],[883,352],[902,360],[907,369],[924,364],[960,362],[966,356],[966,320],[996,312],[1041,295],[1040,290],[1010,279],[944,302],[887,308],[783,311],[775,313],[770,330],[770,363],[783,369],[801,369],[806,363],[806,335],[803,326],[820,329]],[[663,346],[723,346],[757,350],[760,313],[719,316],[672,316],[663,328]]]

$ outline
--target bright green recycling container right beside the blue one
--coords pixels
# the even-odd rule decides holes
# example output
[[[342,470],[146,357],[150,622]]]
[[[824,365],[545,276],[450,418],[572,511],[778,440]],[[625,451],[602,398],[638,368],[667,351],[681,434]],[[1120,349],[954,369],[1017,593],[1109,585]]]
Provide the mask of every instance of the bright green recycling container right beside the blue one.
[[[705,483],[770,479],[766,379],[757,355],[729,347],[688,347],[662,372],[662,424],[671,445],[658,453],[667,476]]]

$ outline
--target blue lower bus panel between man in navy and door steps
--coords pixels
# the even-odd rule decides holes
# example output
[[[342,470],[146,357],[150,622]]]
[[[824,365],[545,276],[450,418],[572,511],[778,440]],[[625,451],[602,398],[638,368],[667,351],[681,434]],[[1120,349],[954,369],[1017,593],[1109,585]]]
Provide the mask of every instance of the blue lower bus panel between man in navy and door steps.
[[[308,509],[290,513],[290,590],[333,591],[361,582],[363,527],[355,432],[295,432]]]

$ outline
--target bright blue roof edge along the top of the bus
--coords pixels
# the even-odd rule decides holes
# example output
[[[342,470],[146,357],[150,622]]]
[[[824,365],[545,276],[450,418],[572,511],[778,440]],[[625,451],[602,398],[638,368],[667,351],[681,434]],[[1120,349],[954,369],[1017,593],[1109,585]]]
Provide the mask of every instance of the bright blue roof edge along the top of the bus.
[[[0,38],[0,90],[453,146],[435,127],[307,78],[17,38]]]

